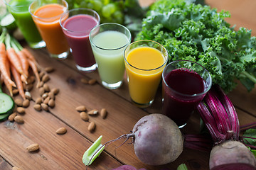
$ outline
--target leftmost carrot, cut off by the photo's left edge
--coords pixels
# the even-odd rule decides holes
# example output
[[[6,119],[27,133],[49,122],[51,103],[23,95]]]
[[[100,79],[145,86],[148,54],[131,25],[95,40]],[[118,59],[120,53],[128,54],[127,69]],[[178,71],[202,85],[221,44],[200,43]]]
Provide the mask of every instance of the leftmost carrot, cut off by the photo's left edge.
[[[11,80],[11,74],[9,69],[9,61],[6,57],[6,48],[3,42],[0,43],[0,69],[1,74],[3,75],[4,79],[6,80],[6,86],[7,84],[11,84],[11,86],[16,87],[16,84],[14,81]]]

